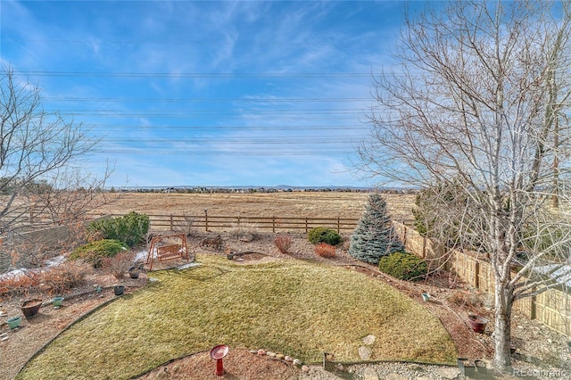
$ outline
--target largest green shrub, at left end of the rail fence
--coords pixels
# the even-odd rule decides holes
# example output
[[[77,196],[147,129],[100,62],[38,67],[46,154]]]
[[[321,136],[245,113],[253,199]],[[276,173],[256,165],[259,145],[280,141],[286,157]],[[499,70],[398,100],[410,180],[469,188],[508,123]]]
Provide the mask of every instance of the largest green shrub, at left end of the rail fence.
[[[87,235],[97,236],[101,239],[119,240],[132,247],[135,244],[145,242],[150,224],[148,215],[131,211],[122,217],[92,222],[87,226]]]

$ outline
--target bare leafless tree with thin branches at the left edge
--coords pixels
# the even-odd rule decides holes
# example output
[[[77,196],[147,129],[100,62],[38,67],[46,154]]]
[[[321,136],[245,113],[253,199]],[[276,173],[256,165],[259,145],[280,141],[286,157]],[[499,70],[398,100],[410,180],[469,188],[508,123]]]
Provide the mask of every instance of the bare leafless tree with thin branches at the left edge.
[[[22,220],[41,214],[54,226],[78,223],[110,201],[103,194],[109,170],[96,179],[76,169],[98,141],[89,128],[44,111],[38,87],[15,78],[10,68],[0,73],[0,85],[0,234],[14,237],[10,249],[17,256],[37,261],[45,247],[18,244],[19,232],[29,228]]]

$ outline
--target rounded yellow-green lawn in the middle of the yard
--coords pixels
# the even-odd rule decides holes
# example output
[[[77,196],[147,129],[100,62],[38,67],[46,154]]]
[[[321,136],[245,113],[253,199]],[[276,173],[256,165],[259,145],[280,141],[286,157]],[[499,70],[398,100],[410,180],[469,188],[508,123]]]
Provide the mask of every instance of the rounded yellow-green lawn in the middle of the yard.
[[[355,361],[369,334],[377,337],[369,346],[373,360],[456,360],[437,318],[366,275],[298,260],[198,261],[151,274],[160,282],[71,326],[17,378],[125,379],[220,343],[304,362],[319,361],[324,351]]]

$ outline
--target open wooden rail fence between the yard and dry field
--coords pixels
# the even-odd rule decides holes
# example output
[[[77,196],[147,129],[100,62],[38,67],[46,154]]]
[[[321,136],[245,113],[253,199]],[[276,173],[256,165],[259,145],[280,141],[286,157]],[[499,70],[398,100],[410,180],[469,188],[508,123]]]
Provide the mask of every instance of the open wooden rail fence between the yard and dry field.
[[[204,231],[225,231],[234,227],[252,226],[258,229],[283,232],[298,230],[308,233],[313,227],[327,227],[338,233],[351,232],[357,226],[359,219],[351,218],[310,218],[310,217],[244,217],[220,215],[148,215],[153,230],[178,231],[188,227]],[[121,216],[119,214],[112,217]]]

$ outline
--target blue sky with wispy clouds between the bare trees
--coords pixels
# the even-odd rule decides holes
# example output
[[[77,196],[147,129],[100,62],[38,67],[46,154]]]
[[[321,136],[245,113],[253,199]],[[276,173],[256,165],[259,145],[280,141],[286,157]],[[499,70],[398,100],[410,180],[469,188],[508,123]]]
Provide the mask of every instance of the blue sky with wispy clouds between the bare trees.
[[[109,186],[370,186],[352,170],[404,3],[2,1],[0,56],[101,137]]]

